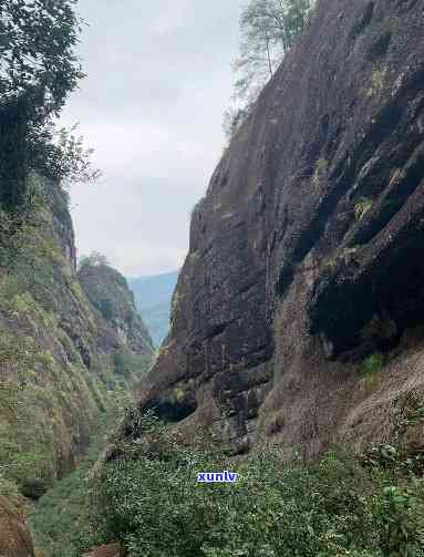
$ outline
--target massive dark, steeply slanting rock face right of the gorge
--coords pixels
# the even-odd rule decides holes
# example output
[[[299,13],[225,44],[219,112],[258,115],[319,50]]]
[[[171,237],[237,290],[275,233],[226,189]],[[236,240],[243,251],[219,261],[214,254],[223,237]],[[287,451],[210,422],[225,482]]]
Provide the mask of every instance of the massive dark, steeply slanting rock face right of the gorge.
[[[417,0],[318,2],[194,212],[142,410],[313,456],[424,389],[423,31]]]

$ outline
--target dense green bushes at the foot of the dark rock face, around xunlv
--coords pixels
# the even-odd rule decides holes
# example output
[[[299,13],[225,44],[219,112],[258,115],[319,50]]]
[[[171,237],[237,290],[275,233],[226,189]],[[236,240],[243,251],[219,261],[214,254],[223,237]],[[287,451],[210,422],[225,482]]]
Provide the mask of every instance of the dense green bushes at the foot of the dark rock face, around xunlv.
[[[229,461],[198,439],[188,448],[151,416],[92,481],[83,551],[122,539],[131,557],[386,557],[424,549],[423,481],[394,482],[331,453],[285,464],[278,451]],[[197,484],[234,470],[236,484]]]

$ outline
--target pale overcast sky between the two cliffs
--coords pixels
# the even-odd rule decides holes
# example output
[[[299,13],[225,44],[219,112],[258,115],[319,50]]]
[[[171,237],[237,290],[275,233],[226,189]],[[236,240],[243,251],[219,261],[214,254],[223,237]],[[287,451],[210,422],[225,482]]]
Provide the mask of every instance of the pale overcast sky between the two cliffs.
[[[128,277],[182,266],[189,215],[225,145],[240,0],[80,0],[80,123],[103,177],[71,189],[80,255]]]

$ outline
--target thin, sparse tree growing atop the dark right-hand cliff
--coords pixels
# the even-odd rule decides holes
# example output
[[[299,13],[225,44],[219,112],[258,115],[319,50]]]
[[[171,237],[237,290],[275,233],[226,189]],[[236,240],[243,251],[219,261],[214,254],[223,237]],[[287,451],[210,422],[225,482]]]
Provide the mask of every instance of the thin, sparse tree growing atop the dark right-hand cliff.
[[[306,28],[314,0],[250,0],[240,18],[240,55],[234,63],[239,75],[235,100],[225,115],[227,135],[238,130],[259,92],[272,78],[287,52]]]

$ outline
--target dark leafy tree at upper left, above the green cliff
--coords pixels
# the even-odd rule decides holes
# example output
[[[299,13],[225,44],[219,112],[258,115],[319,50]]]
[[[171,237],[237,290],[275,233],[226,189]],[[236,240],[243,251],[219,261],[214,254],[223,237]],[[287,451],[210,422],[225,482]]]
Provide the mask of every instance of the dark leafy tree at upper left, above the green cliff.
[[[72,132],[55,132],[66,96],[84,76],[74,53],[82,20],[76,0],[1,0],[0,202],[25,202],[30,169],[55,180],[84,180],[90,151]]]

